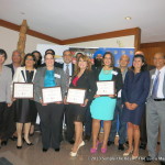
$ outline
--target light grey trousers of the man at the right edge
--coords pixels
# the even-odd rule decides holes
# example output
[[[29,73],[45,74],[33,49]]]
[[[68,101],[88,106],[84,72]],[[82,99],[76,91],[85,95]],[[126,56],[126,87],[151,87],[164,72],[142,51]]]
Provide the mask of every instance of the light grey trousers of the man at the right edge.
[[[161,148],[156,153],[158,127],[161,127]],[[150,99],[146,103],[147,150],[152,158],[165,158],[165,101]]]

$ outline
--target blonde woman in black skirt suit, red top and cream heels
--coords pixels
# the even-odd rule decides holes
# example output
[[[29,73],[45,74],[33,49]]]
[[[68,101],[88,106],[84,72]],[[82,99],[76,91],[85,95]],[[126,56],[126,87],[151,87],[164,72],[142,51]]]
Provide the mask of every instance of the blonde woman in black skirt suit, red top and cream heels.
[[[73,120],[75,124],[75,144],[70,152],[70,156],[76,156],[79,147],[85,145],[85,142],[82,141],[82,122],[85,121],[85,114],[86,114],[88,101],[94,98],[97,90],[95,76],[91,72],[91,62],[90,58],[87,57],[86,55],[80,55],[78,57],[75,66],[75,74],[72,79],[69,88],[86,89],[85,99],[82,101],[84,103],[68,105],[69,120]],[[67,100],[68,100],[68,95],[67,95]],[[81,99],[81,97],[82,96],[80,95],[77,96],[78,99]]]

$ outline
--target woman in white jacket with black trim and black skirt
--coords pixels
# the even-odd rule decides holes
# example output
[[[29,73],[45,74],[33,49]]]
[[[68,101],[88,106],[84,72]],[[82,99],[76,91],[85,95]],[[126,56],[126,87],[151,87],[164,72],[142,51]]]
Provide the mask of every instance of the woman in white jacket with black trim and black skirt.
[[[33,84],[36,69],[34,68],[35,57],[32,54],[26,54],[24,56],[23,67],[19,67],[13,76],[13,92],[16,91],[14,82],[21,84]],[[20,85],[21,85],[20,84]],[[18,84],[19,85],[19,84]],[[21,98],[22,97],[22,98]],[[28,145],[33,145],[29,140],[29,132],[33,117],[33,111],[35,110],[35,102],[32,99],[26,99],[23,96],[13,98],[15,106],[15,122],[16,122],[16,133],[18,133],[18,148],[22,148],[22,129],[24,128],[23,141]]]

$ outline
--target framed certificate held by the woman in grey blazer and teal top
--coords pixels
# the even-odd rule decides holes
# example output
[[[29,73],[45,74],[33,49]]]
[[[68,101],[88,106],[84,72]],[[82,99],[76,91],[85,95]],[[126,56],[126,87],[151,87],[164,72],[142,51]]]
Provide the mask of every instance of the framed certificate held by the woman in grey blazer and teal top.
[[[61,87],[42,88],[43,103],[63,101]]]

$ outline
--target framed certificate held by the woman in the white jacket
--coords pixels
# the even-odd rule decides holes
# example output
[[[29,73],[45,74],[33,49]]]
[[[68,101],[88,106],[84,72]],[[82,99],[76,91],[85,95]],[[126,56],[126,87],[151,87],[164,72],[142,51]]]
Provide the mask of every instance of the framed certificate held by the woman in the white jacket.
[[[34,85],[26,82],[13,84],[13,98],[14,99],[33,99],[34,98]]]

